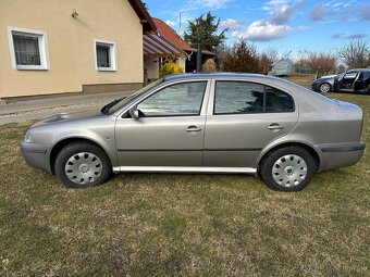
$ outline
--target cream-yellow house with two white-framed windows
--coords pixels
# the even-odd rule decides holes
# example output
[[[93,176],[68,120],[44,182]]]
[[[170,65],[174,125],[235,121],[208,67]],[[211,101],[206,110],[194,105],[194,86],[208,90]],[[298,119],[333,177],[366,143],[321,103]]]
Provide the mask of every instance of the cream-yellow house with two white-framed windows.
[[[143,86],[140,0],[2,0],[0,99]]]

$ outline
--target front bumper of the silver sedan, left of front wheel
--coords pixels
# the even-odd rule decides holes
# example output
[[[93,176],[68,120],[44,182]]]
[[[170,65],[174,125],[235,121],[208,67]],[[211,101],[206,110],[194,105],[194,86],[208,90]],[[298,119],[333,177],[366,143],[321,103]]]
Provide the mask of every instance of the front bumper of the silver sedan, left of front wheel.
[[[39,168],[51,174],[50,152],[50,144],[21,143],[21,153],[26,163],[35,168]]]

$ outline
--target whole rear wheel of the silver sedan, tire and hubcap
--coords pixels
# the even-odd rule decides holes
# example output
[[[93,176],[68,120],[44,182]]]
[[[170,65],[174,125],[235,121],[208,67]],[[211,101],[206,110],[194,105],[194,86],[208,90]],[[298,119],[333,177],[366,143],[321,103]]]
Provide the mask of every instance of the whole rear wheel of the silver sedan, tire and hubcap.
[[[317,166],[312,155],[300,147],[286,147],[269,153],[260,166],[266,185],[279,191],[299,191],[312,179]]]

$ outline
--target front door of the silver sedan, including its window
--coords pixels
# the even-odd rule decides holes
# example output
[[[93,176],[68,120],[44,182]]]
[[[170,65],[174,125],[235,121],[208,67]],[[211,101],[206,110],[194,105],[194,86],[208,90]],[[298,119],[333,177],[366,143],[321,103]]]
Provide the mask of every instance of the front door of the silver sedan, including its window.
[[[168,85],[136,103],[140,117],[115,126],[121,166],[201,166],[208,80]]]

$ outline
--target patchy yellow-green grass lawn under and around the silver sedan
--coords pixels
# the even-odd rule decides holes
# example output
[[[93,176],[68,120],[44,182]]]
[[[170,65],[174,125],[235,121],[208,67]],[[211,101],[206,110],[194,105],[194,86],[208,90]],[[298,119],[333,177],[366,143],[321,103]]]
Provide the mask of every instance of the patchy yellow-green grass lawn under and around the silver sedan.
[[[370,97],[329,96],[362,106],[369,143]],[[23,161],[29,125],[0,126],[0,276],[370,276],[368,149],[297,193],[185,174],[72,190]]]

